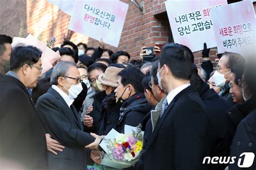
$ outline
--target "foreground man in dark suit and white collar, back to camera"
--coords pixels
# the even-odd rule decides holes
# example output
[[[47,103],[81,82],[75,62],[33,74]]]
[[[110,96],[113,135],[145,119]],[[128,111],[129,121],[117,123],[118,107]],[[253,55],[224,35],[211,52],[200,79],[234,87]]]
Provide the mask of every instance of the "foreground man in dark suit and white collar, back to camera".
[[[157,77],[168,94],[152,122],[144,169],[209,169],[202,163],[210,154],[211,127],[203,101],[190,86],[192,53],[185,48],[163,47]]]

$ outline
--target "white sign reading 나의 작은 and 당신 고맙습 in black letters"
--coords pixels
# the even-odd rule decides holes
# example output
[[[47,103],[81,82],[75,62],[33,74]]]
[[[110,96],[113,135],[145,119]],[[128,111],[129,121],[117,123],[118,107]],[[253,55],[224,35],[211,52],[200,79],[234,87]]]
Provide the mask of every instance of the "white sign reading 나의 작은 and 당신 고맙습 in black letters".
[[[188,46],[192,52],[217,46],[211,21],[211,8],[227,4],[226,0],[165,2],[175,43]]]

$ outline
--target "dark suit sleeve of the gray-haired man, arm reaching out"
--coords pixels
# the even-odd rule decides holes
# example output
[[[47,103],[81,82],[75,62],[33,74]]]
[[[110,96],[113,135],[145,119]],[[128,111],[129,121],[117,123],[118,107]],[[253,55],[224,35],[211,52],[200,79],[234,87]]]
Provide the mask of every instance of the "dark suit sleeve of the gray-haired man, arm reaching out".
[[[46,131],[53,132],[59,142],[70,147],[84,147],[95,141],[91,134],[74,129],[57,104],[42,98],[36,105],[37,112]]]

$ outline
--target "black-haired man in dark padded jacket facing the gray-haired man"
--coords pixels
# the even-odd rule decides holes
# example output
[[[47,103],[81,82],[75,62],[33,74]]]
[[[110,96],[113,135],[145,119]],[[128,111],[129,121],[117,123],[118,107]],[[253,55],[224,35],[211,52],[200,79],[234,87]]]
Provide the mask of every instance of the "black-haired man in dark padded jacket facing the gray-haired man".
[[[136,127],[144,116],[151,110],[150,104],[144,95],[142,80],[144,74],[136,67],[131,66],[118,74],[118,87],[114,92],[117,102],[123,103],[120,108],[120,117],[116,125],[119,133],[124,133],[124,126]]]

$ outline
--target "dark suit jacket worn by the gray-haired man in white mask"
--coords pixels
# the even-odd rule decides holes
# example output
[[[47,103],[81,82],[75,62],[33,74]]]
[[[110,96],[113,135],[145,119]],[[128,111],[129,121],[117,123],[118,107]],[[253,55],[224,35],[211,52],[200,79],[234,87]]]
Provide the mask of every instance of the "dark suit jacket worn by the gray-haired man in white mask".
[[[95,138],[83,132],[76,108],[69,107],[60,94],[50,88],[37,100],[36,109],[45,133],[65,146],[58,155],[48,152],[50,169],[85,169],[84,147]]]

